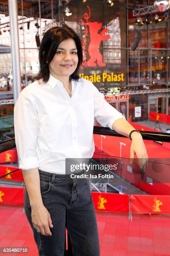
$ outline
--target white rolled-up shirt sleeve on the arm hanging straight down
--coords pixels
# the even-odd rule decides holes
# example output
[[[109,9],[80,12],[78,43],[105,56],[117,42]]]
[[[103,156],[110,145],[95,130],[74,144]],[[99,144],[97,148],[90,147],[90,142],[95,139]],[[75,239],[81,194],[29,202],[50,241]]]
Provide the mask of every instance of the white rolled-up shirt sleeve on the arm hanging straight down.
[[[15,144],[19,168],[39,167],[37,158],[38,115],[32,100],[20,94],[14,107]]]

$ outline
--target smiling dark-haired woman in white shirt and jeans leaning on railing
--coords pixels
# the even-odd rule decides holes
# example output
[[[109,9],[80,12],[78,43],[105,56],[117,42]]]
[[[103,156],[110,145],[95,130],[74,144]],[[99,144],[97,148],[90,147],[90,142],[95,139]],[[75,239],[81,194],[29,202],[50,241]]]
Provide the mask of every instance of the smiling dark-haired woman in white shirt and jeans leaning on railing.
[[[99,256],[89,180],[66,182],[65,158],[91,158],[94,118],[127,137],[134,130],[92,82],[78,76],[80,38],[52,27],[42,38],[38,80],[14,108],[15,142],[25,181],[24,208],[39,255],[63,256],[65,227],[74,256]],[[131,133],[130,157],[147,158],[140,133]]]

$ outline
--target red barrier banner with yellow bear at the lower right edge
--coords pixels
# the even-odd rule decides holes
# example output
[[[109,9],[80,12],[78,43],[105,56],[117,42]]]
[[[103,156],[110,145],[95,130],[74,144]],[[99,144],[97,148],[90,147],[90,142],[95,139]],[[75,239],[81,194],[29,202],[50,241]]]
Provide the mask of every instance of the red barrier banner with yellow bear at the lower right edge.
[[[131,212],[170,214],[170,196],[131,195]]]

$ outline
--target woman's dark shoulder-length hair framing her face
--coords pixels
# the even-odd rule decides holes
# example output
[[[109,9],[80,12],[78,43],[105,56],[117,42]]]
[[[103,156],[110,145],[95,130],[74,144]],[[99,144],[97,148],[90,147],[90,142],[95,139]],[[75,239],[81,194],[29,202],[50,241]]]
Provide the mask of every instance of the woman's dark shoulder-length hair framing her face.
[[[50,77],[49,64],[55,56],[59,44],[69,38],[72,38],[75,41],[78,56],[77,68],[75,69],[75,72],[70,75],[70,79],[78,80],[80,78],[78,71],[83,58],[81,40],[72,28],[63,26],[48,29],[42,38],[39,50],[40,71],[37,75],[38,80],[42,79],[44,83],[48,81]]]

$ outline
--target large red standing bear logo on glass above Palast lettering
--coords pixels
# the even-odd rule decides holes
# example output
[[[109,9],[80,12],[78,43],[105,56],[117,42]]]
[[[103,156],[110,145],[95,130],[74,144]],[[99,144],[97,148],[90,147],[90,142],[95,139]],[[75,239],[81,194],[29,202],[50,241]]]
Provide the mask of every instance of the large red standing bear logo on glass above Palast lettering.
[[[97,22],[89,22],[89,31],[90,31],[90,44],[88,48],[88,53],[90,55],[90,59],[87,61],[88,67],[95,67],[97,61],[97,65],[100,67],[105,67],[106,64],[102,61],[102,54],[100,54],[99,46],[102,40],[110,39],[109,35],[104,35],[108,29],[104,28],[101,33],[97,33],[100,28],[102,28],[102,23]]]

